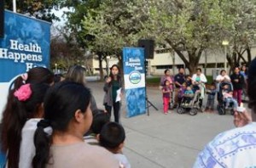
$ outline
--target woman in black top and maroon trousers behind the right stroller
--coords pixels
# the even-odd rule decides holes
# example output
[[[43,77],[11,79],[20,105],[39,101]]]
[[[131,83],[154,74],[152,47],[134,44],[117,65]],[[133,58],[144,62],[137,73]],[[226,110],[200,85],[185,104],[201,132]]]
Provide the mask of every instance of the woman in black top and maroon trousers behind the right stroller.
[[[235,68],[234,73],[230,76],[230,79],[234,89],[233,97],[237,99],[237,103],[240,106],[244,77],[240,74],[240,69],[238,67]]]

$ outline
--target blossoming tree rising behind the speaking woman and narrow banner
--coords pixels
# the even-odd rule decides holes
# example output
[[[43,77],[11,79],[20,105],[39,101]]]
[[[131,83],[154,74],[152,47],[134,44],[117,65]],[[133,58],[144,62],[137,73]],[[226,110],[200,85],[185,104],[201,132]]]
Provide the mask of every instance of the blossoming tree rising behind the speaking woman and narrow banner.
[[[121,63],[122,48],[137,46],[148,12],[148,3],[140,0],[106,0],[99,8],[90,9],[84,17],[83,27],[84,36],[93,40],[85,38],[85,43],[91,51],[99,53],[100,67],[107,55],[116,57]]]

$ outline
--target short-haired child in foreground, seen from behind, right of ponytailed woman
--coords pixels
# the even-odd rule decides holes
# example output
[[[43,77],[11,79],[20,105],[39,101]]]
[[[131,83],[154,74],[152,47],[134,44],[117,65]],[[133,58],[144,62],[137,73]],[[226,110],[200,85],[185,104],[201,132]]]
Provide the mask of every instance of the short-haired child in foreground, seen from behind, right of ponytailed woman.
[[[98,139],[100,145],[107,148],[119,160],[120,168],[131,168],[131,164],[122,154],[122,148],[125,144],[125,129],[123,126],[116,122],[108,122],[102,127]]]

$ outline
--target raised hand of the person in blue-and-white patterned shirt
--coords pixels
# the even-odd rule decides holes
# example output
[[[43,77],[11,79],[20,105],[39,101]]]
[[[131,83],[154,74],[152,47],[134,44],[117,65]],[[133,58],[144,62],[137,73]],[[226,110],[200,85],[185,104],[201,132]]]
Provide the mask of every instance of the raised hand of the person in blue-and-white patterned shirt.
[[[248,113],[247,110],[244,110],[243,112],[235,111],[234,125],[236,127],[246,126],[250,122],[252,122],[252,115]]]

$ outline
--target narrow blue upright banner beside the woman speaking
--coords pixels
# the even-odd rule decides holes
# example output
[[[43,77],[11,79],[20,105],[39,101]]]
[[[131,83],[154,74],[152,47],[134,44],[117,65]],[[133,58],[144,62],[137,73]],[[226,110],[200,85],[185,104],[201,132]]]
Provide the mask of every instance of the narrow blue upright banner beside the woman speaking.
[[[144,48],[123,48],[127,117],[146,113]]]

